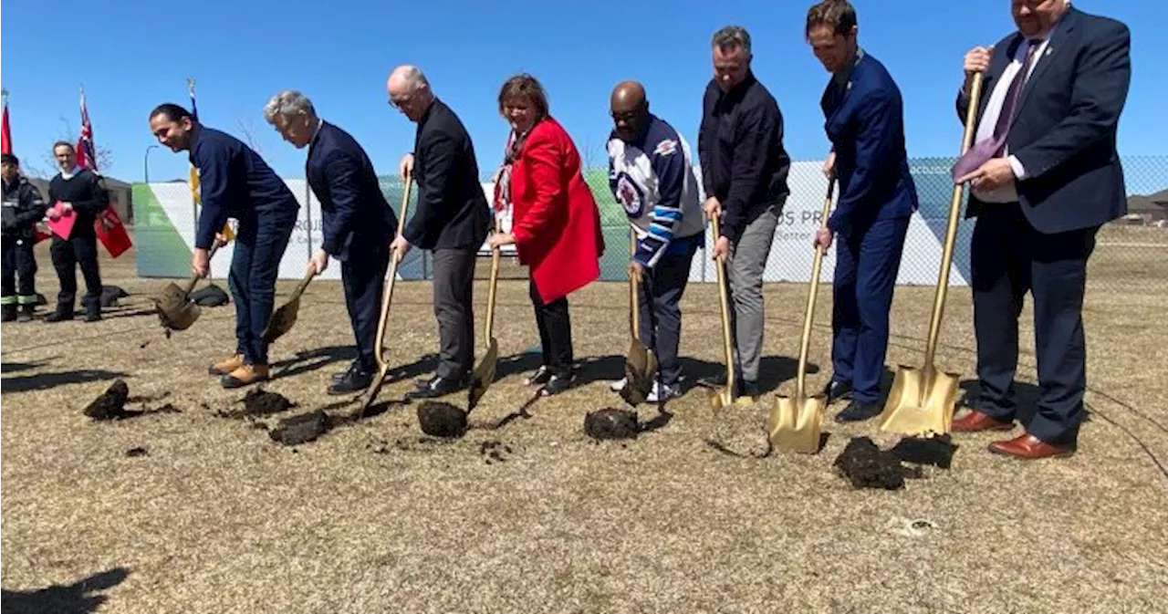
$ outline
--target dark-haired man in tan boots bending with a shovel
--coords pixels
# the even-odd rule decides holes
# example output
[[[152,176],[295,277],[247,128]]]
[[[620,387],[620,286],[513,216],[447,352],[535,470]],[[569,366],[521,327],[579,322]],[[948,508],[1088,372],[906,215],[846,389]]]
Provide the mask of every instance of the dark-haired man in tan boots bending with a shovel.
[[[190,152],[199,169],[200,196],[192,272],[210,272],[208,250],[223,240],[217,231],[228,217],[239,222],[228,284],[235,299],[235,354],[208,370],[223,388],[269,378],[267,344],[262,334],[276,298],[280,258],[292,237],[300,203],[259,154],[239,139],[203,126],[175,104],[151,111],[151,132],[175,152]]]

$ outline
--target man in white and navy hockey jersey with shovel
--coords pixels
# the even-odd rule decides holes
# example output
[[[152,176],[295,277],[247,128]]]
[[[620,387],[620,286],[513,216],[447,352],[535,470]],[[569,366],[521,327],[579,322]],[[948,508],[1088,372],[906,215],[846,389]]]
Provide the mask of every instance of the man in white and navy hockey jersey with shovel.
[[[641,341],[660,364],[647,398],[658,403],[680,395],[679,302],[694,253],[705,238],[705,217],[689,145],[649,113],[645,88],[632,81],[618,83],[610,111],[616,128],[609,137],[609,184],[637,233],[628,272],[641,282]],[[612,388],[624,385],[621,381]]]

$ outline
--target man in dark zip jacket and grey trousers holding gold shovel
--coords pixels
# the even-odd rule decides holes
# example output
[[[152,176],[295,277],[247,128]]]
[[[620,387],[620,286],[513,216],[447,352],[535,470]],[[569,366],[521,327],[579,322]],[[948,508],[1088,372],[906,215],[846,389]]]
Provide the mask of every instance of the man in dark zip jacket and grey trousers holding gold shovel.
[[[726,26],[714,34],[714,78],[702,99],[697,151],[705,214],[719,216],[711,258],[726,257],[735,379],[738,396],[757,397],[763,349],[763,270],[786,202],[791,158],[783,113],[750,70],[750,34]],[[724,385],[724,379],[710,382]]]

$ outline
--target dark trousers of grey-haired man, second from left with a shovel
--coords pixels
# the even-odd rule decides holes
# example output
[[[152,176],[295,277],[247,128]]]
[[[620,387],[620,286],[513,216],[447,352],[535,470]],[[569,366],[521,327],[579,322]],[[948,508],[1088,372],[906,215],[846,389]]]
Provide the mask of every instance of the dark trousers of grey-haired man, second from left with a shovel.
[[[345,307],[349,311],[357,360],[367,370],[377,367],[377,320],[381,318],[381,295],[388,267],[389,249],[380,244],[349,250],[349,259],[341,263]]]

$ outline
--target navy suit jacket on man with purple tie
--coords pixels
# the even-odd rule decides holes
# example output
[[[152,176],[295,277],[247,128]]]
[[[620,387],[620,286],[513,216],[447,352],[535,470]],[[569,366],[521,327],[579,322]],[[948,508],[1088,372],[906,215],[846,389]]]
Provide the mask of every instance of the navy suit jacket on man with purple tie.
[[[1024,42],[1020,33],[994,46],[982,82],[978,118],[989,95]],[[1030,225],[1055,233],[1101,225],[1127,212],[1124,170],[1115,132],[1132,77],[1127,26],[1070,8],[1050,34],[1047,53],[1022,88],[1007,153],[1026,170],[1016,181]],[[961,120],[969,97],[958,95]],[[969,197],[967,217],[985,208]]]

